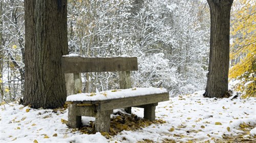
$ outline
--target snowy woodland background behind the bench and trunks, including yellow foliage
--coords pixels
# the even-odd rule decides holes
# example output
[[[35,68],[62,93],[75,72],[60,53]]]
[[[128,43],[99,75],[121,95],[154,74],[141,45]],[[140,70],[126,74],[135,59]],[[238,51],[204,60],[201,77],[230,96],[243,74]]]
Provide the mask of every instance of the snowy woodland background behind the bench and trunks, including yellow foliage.
[[[232,5],[230,89],[243,97],[256,96],[255,13],[254,1]],[[0,0],[0,94],[7,102],[23,96],[24,28],[24,1]],[[172,96],[204,90],[209,38],[206,1],[68,1],[69,53],[137,56],[133,87],[161,86]],[[119,88],[117,74],[82,74],[82,92]]]

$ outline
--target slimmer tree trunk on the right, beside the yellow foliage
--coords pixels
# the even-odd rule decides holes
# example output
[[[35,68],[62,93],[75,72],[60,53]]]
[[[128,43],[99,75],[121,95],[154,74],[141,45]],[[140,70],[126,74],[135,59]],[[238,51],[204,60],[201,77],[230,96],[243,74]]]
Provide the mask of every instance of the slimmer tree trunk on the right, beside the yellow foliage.
[[[207,0],[210,7],[210,59],[205,97],[228,91],[230,9],[233,0]]]

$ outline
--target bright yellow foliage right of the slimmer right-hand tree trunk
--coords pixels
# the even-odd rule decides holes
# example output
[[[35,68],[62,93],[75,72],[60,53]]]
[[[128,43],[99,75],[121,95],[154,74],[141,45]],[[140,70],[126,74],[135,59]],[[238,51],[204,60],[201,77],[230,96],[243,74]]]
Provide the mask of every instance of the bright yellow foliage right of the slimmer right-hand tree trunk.
[[[231,14],[229,78],[240,80],[235,88],[243,97],[256,97],[256,4],[236,1]]]

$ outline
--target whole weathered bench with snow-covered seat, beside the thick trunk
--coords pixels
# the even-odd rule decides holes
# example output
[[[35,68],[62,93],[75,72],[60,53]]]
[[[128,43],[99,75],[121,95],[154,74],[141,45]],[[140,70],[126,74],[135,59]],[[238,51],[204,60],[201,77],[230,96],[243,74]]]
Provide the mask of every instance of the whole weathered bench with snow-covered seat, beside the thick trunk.
[[[65,73],[118,71],[120,88],[100,93],[83,93],[70,95],[66,104],[68,109],[68,126],[79,128],[81,116],[95,117],[95,130],[110,131],[110,115],[113,109],[131,107],[144,108],[144,118],[155,120],[155,109],[158,102],[169,100],[169,94],[161,88],[131,89],[130,71],[138,70],[137,58],[82,58],[62,57],[62,69]],[[130,89],[127,89],[130,88]]]

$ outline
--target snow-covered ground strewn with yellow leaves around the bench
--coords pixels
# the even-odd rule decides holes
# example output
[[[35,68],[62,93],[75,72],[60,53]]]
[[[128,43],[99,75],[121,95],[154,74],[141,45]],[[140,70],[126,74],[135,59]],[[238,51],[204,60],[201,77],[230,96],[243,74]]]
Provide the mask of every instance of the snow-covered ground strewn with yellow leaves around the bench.
[[[110,139],[100,133],[82,134],[72,131],[62,122],[68,120],[68,110],[32,109],[16,103],[1,106],[1,142],[214,142],[225,136],[244,133],[241,127],[256,125],[256,100],[203,98],[203,92],[170,98],[156,109],[157,119],[164,124],[135,131],[122,131]],[[143,116],[143,109],[132,112]],[[83,117],[83,123],[93,120]],[[256,135],[251,129],[246,136]],[[253,138],[253,137],[252,137]]]

